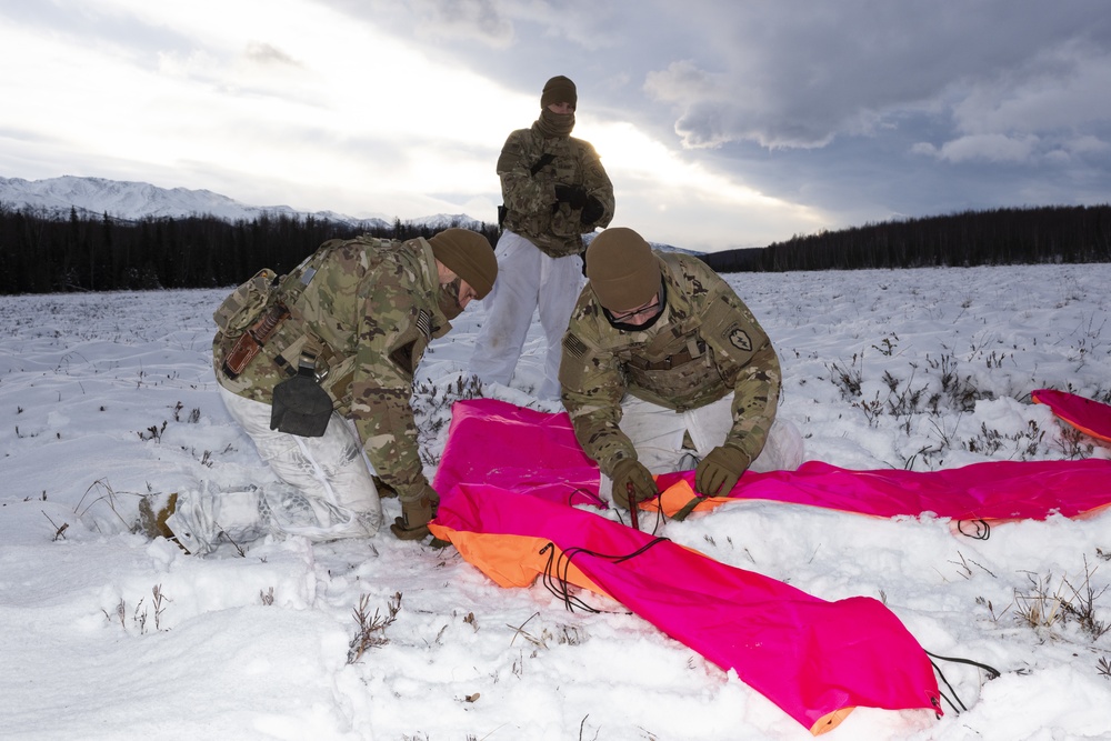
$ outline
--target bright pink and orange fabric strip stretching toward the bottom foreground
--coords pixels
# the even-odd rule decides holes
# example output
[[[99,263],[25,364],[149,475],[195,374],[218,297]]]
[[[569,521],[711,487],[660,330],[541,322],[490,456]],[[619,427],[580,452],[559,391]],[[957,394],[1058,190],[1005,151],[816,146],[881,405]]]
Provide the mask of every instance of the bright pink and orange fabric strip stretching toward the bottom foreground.
[[[709,661],[735,670],[814,734],[837,727],[857,707],[941,713],[925,652],[878,600],[827,602],[594,513],[499,485],[439,490],[429,528],[499,584],[558,577],[607,594]]]

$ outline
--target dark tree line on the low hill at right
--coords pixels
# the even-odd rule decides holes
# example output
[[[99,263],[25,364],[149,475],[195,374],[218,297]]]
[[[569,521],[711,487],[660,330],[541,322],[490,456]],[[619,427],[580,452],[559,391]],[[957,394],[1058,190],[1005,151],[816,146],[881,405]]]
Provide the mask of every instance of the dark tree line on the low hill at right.
[[[965,211],[795,236],[703,258],[719,272],[1111,261],[1111,206]]]

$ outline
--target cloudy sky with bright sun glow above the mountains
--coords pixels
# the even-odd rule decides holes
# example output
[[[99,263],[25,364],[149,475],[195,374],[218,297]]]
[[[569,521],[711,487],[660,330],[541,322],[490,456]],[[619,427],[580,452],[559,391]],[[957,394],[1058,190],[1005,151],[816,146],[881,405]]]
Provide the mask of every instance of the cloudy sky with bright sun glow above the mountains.
[[[0,177],[493,221],[553,74],[698,250],[1111,200],[1104,0],[0,0]]]

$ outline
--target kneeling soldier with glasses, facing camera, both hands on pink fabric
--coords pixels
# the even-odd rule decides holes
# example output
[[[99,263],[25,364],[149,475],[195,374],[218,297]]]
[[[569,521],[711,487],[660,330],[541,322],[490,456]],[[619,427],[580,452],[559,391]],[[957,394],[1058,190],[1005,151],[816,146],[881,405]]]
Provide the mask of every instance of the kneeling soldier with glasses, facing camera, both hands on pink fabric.
[[[750,465],[799,465],[801,435],[775,421],[771,341],[704,262],[653,252],[633,230],[612,228],[587,250],[587,277],[560,381],[575,437],[614,502],[654,497],[653,473],[693,463],[705,495],[728,492]]]

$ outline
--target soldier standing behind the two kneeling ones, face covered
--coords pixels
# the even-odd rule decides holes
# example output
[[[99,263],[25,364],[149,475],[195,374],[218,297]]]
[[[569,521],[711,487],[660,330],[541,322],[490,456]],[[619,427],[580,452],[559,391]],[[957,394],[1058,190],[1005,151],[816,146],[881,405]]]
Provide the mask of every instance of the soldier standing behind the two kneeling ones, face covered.
[[[470,364],[483,382],[508,385],[539,308],[548,349],[537,393],[547,399],[559,394],[560,341],[582,287],[582,234],[613,218],[613,186],[594,148],[570,136],[577,103],[571,80],[550,79],[540,118],[510,133],[498,158],[500,278]]]

